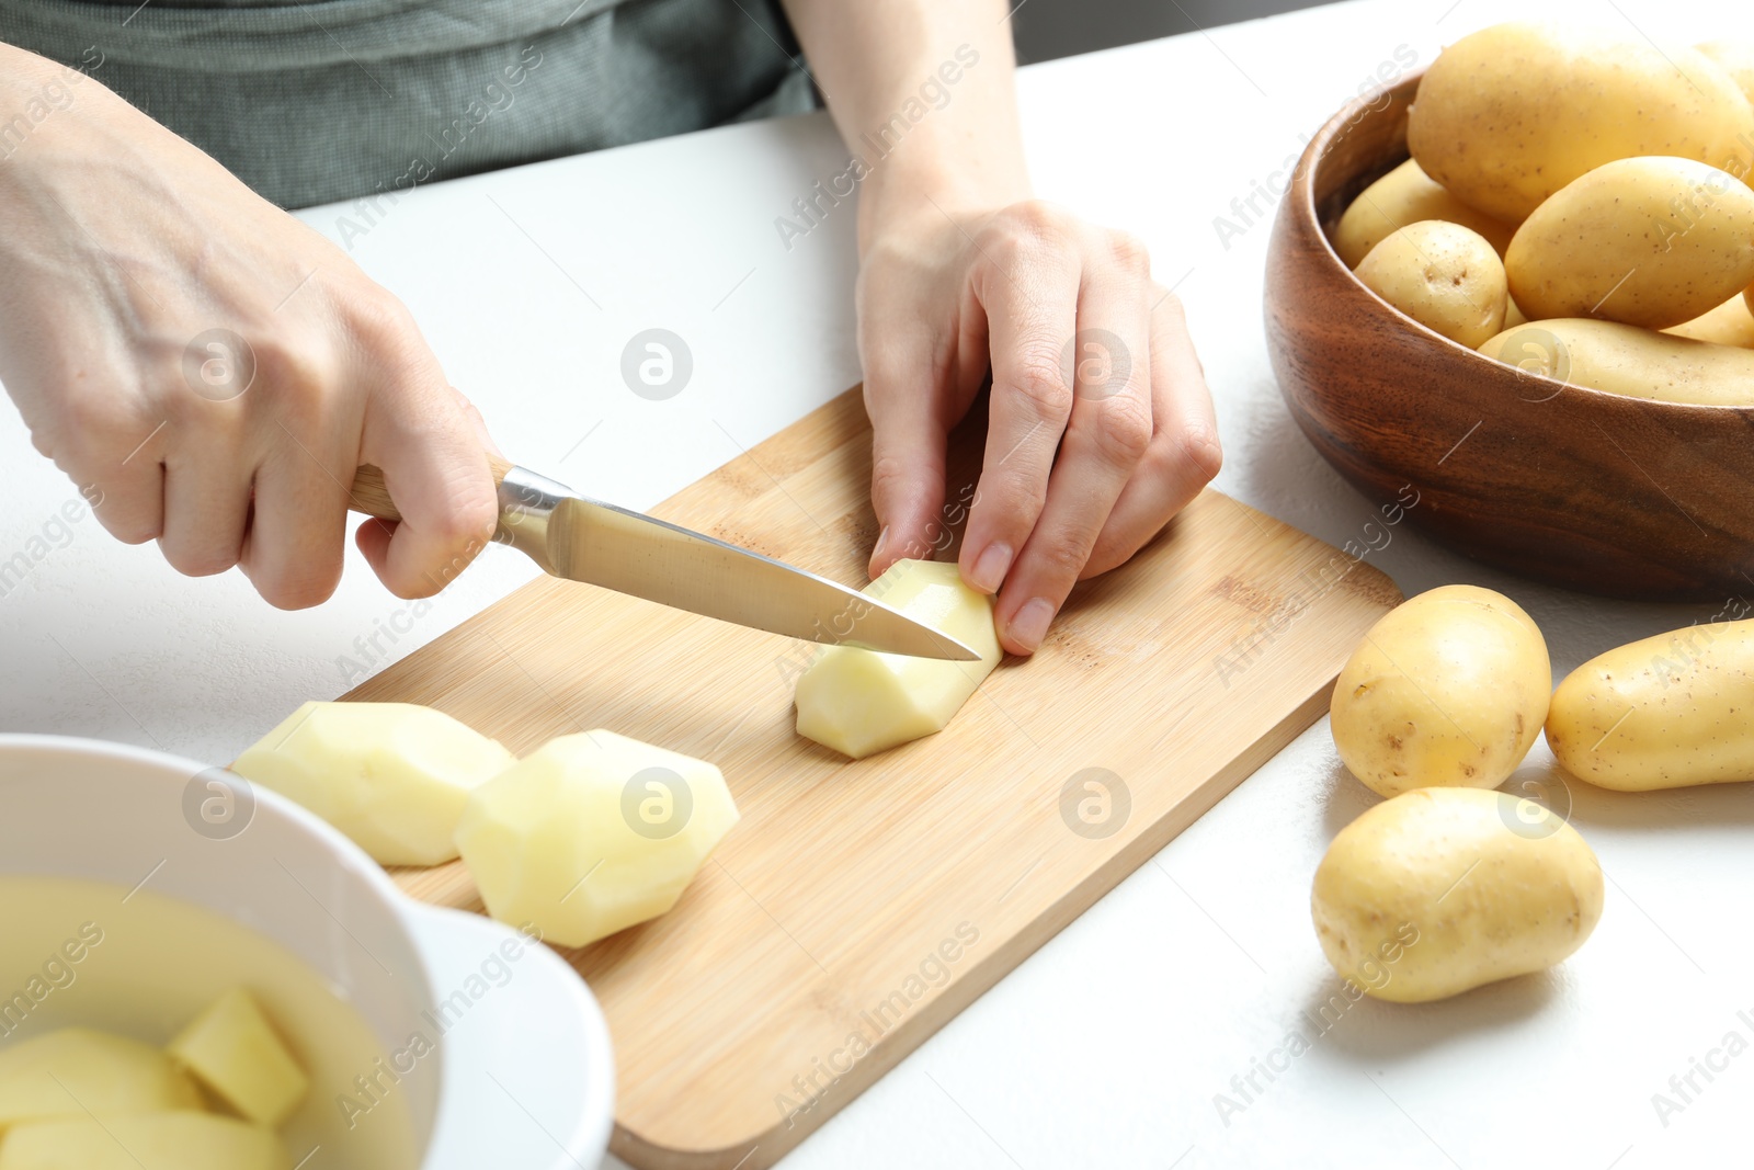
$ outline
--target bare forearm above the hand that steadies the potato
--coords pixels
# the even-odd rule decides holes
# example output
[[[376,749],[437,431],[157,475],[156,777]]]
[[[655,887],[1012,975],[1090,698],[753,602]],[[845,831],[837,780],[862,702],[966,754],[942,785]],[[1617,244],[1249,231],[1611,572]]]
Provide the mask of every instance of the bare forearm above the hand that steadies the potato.
[[[861,251],[895,216],[1030,196],[1003,0],[784,4],[840,137],[868,170]]]

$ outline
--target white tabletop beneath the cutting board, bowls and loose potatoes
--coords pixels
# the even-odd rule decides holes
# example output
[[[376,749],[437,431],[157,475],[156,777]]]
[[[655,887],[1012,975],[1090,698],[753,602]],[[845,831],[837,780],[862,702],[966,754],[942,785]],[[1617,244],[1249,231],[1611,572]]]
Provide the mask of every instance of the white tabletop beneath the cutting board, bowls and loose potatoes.
[[[1228,447],[1221,489],[1335,544],[1380,503],[1316,456],[1279,396],[1261,332],[1268,226],[1226,247],[1214,218],[1379,65],[1394,68],[1398,49],[1422,67],[1445,40],[1531,12],[1680,40],[1754,35],[1736,0],[1365,0],[1024,70],[1038,191],[1142,233],[1156,275],[1187,302]],[[774,230],[844,161],[824,116],[688,135],[423,188],[354,254],[409,302],[505,451],[651,507],[858,381],[852,209],[789,253]],[[305,219],[339,239],[339,210]],[[617,375],[624,342],[651,326],[695,356],[668,402]],[[11,410],[0,465],[5,558],[75,493]],[[1535,586],[1407,526],[1372,560],[1408,595],[1503,589],[1545,630],[1556,677],[1717,609]],[[300,702],[344,691],[344,658],[375,670],[531,575],[489,549],[414,617],[353,556],[332,602],[284,614],[237,574],[182,579],[86,516],[0,598],[0,730],[226,761]],[[395,640],[379,633],[372,663],[356,640],[381,630]],[[1549,763],[1538,744],[1526,767]],[[784,1165],[1745,1165],[1754,1056],[1698,1079],[1666,1124],[1652,1095],[1726,1033],[1754,1040],[1754,935],[1738,909],[1754,900],[1754,788],[1570,791],[1608,875],[1601,924],[1575,958],[1447,1003],[1366,1000],[1224,1119],[1214,1096],[1235,1095],[1231,1077],[1289,1030],[1314,1033],[1338,989],[1308,882],[1375,798],[1340,768],[1323,719]]]

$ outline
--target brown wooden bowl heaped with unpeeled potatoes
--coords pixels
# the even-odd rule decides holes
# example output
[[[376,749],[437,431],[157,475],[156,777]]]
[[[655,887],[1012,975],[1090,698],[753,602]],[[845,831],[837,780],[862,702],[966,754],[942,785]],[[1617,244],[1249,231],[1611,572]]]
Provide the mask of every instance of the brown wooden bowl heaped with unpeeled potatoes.
[[[1586,96],[1587,95],[1587,96]],[[1475,560],[1589,593],[1754,579],[1754,42],[1498,25],[1342,109],[1279,209],[1291,416]]]

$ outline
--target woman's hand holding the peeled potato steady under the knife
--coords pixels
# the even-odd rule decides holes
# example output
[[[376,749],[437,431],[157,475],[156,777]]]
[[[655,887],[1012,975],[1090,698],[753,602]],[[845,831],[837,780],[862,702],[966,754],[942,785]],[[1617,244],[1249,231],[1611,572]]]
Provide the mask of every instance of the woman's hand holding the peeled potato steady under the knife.
[[[991,370],[961,570],[998,593],[1003,647],[1030,654],[1077,581],[1126,561],[1219,470],[1180,302],[1137,239],[1049,203],[924,198],[863,226],[870,572],[942,540],[945,435]]]

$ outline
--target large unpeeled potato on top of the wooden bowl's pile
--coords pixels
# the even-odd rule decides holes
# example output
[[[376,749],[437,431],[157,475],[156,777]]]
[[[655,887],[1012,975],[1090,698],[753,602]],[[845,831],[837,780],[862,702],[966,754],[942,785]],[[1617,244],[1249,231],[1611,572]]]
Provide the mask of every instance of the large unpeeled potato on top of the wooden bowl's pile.
[[[1438,54],[1419,82],[1407,144],[1458,198],[1522,223],[1617,158],[1673,154],[1747,179],[1754,107],[1698,49],[1512,23]]]

